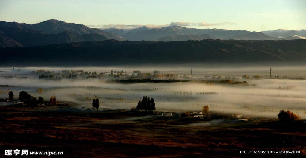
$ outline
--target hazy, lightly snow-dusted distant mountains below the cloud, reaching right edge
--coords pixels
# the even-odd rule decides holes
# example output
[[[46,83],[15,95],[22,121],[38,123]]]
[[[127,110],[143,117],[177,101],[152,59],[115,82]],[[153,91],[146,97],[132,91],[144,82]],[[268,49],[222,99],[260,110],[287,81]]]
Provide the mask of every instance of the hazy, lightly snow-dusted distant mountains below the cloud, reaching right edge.
[[[193,38],[188,37],[186,40],[201,39],[203,34],[210,35],[211,39],[235,39],[235,40],[289,40],[289,39],[302,39],[306,36],[306,30],[295,30],[283,36],[277,34],[278,30],[275,31],[263,31],[263,32],[251,32],[245,30],[225,30],[225,29],[196,29],[196,28],[186,28],[181,26],[168,26],[162,28],[149,28],[149,27],[139,27],[132,30],[123,30],[116,28],[105,29],[104,31],[117,34],[123,37],[125,40],[130,41],[140,41],[140,40],[166,40],[166,41],[180,41],[177,38],[173,38],[179,35],[194,36]],[[269,34],[273,34],[270,36]],[[277,36],[275,36],[277,34]],[[181,36],[181,38],[184,36]],[[196,38],[195,38],[196,37]],[[185,40],[182,38],[182,40]],[[205,38],[203,38],[205,39]]]

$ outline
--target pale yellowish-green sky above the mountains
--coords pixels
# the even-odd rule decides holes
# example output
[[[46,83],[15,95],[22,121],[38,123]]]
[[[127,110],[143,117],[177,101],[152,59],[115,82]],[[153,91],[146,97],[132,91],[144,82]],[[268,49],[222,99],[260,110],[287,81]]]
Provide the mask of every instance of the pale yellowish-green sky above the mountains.
[[[94,28],[306,29],[304,0],[0,0],[0,21],[56,19]]]

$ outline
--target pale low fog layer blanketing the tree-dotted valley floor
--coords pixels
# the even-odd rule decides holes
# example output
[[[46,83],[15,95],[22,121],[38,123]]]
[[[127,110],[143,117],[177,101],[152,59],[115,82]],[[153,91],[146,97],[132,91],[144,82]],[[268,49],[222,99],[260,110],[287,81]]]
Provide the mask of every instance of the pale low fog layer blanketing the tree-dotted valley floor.
[[[27,68],[27,71],[29,72],[34,69]],[[54,68],[54,70],[57,69]],[[76,68],[74,69],[76,70]],[[94,71],[93,68],[84,68],[83,70],[86,69]],[[121,70],[122,68],[101,68],[101,70],[104,71],[107,69]],[[130,70],[127,69],[127,71],[132,71],[134,69],[135,68],[131,68]],[[166,69],[171,68],[159,69],[166,72]],[[179,68],[172,70],[178,71],[178,69]],[[280,71],[280,69],[275,69]],[[148,71],[149,69],[144,68],[139,70],[146,72],[146,70]],[[218,74],[222,73],[220,70],[221,68],[211,69],[211,71]],[[260,71],[256,72],[256,70],[261,70],[260,68],[254,68],[253,70],[251,69],[251,71],[245,70],[245,72],[241,72],[243,69],[236,70],[236,72],[230,72],[228,70],[230,69],[225,69],[223,73],[244,73],[250,74],[250,76],[267,73]],[[287,70],[284,70],[281,73],[292,73],[286,71]],[[303,74],[302,68],[297,71],[300,72],[300,75]],[[183,74],[182,72],[178,72],[178,74],[179,73]],[[263,77],[264,76],[265,75],[263,75]],[[294,76],[294,74],[292,73],[291,76]],[[194,82],[109,84],[104,80],[99,79],[73,81],[62,79],[60,81],[50,81],[40,80],[38,77],[35,79],[1,77],[1,85],[21,85],[21,87],[1,87],[0,97],[8,98],[8,92],[12,90],[14,92],[14,98],[18,99],[19,92],[24,90],[37,98],[38,96],[43,96],[45,100],[49,100],[51,95],[55,95],[57,100],[60,102],[70,102],[79,110],[82,110],[82,108],[84,110],[84,107],[85,109],[92,108],[91,103],[93,98],[99,98],[100,108],[120,108],[129,110],[131,107],[136,107],[137,102],[141,100],[142,96],[147,95],[148,97],[154,98],[157,111],[177,113],[186,111],[200,112],[202,111],[203,106],[208,105],[209,111],[214,113],[277,118],[279,110],[284,109],[299,114],[302,119],[306,118],[306,92],[304,91],[304,89],[306,89],[305,80],[264,78],[258,80],[245,80],[250,85],[207,85]],[[41,88],[43,92],[39,93],[37,91],[38,88]],[[215,93],[205,94],[205,92]],[[6,103],[2,102],[1,106],[5,106],[5,104]]]

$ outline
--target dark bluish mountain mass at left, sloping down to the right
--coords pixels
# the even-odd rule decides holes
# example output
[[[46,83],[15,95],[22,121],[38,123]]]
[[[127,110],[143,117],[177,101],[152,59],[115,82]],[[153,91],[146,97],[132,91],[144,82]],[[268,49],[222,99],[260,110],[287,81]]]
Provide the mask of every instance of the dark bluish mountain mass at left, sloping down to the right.
[[[0,22],[0,47],[40,46],[80,41],[123,40],[118,35],[81,24],[47,20],[37,24]]]

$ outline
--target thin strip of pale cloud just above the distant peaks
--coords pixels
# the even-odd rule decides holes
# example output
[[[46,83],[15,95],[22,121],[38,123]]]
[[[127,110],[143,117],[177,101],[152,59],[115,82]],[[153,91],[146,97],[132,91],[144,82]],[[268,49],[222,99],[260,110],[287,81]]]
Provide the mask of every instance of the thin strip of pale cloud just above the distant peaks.
[[[155,25],[155,24],[146,24],[146,25],[141,25],[141,24],[106,24],[106,25],[86,25],[87,27],[98,27],[102,30],[108,29],[108,28],[117,28],[117,29],[123,29],[123,30],[132,30],[135,28],[139,27],[149,27],[149,28],[161,28],[161,27],[167,27],[167,26],[182,26],[182,27],[192,27],[192,26],[220,26],[220,25],[237,25],[236,23],[230,23],[230,22],[223,22],[223,23],[189,23],[189,22],[172,22],[170,24],[165,24],[165,25]]]

